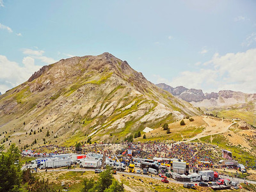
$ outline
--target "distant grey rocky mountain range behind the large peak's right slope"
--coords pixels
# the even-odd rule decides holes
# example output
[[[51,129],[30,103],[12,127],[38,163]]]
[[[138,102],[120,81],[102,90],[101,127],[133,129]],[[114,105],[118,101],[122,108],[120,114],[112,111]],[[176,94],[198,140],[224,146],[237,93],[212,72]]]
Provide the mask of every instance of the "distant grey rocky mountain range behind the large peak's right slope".
[[[202,90],[188,89],[183,86],[173,88],[164,83],[156,84],[156,86],[190,102],[195,107],[204,109],[207,113],[215,113],[227,118],[242,118],[256,125],[256,93],[248,94],[230,90],[204,93]]]

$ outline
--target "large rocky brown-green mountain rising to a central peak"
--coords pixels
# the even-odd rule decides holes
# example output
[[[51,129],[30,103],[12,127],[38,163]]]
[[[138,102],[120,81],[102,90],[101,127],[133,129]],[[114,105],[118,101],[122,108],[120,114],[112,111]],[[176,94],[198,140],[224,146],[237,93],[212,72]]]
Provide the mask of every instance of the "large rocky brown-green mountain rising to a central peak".
[[[44,66],[1,95],[0,141],[20,140],[21,146],[35,139],[36,145],[74,145],[90,137],[120,141],[145,127],[200,113],[105,52]]]

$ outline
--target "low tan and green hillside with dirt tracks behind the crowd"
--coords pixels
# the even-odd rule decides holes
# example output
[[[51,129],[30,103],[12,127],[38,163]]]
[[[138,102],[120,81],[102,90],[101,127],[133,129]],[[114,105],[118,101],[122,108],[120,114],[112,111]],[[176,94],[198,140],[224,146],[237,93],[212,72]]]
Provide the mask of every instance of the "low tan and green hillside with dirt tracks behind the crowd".
[[[170,133],[163,127],[147,132],[146,139],[135,141],[169,141],[172,143],[200,142],[211,145],[211,157],[220,161],[221,150],[230,150],[233,158],[240,163],[254,165],[256,157],[256,129],[241,120],[214,118],[211,116],[193,116],[193,121],[184,119],[169,124]]]

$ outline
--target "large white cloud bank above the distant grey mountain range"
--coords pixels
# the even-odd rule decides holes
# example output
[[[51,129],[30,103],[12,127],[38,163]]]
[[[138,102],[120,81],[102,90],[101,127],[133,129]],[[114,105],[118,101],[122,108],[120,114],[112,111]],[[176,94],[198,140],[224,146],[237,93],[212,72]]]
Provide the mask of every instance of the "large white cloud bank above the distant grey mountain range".
[[[210,61],[203,63],[196,71],[184,71],[172,81],[159,76],[157,83],[170,86],[185,86],[202,89],[204,92],[233,90],[244,93],[256,93],[256,49],[246,52],[227,53],[224,56],[216,53]]]

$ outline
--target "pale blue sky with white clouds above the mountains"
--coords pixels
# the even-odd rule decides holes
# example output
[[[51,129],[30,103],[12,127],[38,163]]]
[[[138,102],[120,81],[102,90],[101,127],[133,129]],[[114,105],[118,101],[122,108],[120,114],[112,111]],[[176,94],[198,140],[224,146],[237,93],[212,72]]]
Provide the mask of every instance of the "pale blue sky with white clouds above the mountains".
[[[152,83],[256,93],[256,1],[0,0],[0,92],[110,52]]]

